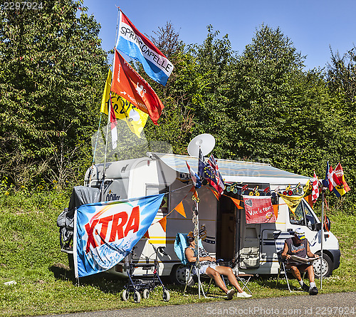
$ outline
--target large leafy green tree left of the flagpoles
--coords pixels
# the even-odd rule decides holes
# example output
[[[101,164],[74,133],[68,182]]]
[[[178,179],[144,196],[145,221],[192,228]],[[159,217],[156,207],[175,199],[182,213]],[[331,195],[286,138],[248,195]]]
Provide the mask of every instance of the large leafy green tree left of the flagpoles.
[[[0,10],[0,172],[17,186],[63,185],[90,162],[108,66],[82,4]]]

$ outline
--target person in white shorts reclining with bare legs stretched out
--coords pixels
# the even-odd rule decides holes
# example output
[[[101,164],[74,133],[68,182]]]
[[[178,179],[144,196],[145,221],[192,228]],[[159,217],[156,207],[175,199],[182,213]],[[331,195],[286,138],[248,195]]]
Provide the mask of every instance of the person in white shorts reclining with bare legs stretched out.
[[[194,263],[197,261],[197,254],[195,254],[195,241],[193,232],[189,232],[187,236],[189,246],[185,249],[185,256],[187,256],[187,260],[190,263]],[[238,281],[236,280],[236,276],[230,267],[227,266],[219,266],[216,264],[216,259],[212,258],[209,253],[199,246],[199,261],[200,261],[200,269],[199,274],[206,274],[207,276],[214,279],[216,286],[226,293],[227,299],[231,299],[236,292],[235,289],[228,290],[224,281],[221,279],[220,274],[223,274],[228,277],[230,284],[233,285],[239,293],[237,293],[237,297],[251,297],[245,291],[241,289]],[[195,267],[194,267],[195,270]],[[194,274],[197,274],[197,271],[194,271]]]

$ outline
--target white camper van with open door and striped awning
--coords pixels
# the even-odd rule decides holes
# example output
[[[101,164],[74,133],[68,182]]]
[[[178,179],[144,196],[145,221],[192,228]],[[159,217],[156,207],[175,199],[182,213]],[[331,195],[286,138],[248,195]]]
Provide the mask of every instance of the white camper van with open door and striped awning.
[[[171,276],[173,281],[184,282],[184,268],[174,253],[174,240],[178,232],[192,231],[192,181],[187,170],[188,164],[197,172],[198,159],[184,155],[160,154],[148,152],[147,157],[134,160],[122,160],[107,163],[105,182],[103,183],[103,164],[88,169],[85,186],[103,186],[101,201],[144,197],[150,194],[167,193],[164,204],[157,212],[155,221],[149,229],[150,238],[143,237],[137,244],[134,261],[146,261],[155,254],[158,246],[165,246],[168,256],[159,254],[159,275]],[[288,185],[305,185],[309,177],[279,170],[264,163],[218,160],[219,171],[226,183],[239,182],[248,188],[270,187],[271,192]],[[275,202],[278,206],[276,223],[246,224],[244,209],[237,209],[229,197],[241,199],[239,192],[227,192],[216,199],[212,187],[201,186],[199,194],[199,232],[204,248],[216,259],[234,261],[235,270],[243,274],[278,274],[278,258],[273,233],[291,232],[298,227],[305,230],[310,241],[310,250],[321,250],[321,224],[313,209],[303,199],[295,211],[290,212],[283,199]],[[185,199],[184,199],[185,197]],[[187,218],[172,209],[183,202]],[[158,223],[167,216],[166,232]],[[340,249],[337,238],[332,232],[325,232],[323,241],[323,276],[330,276],[340,265]],[[320,275],[319,268],[315,274]],[[138,270],[138,269],[137,269]],[[125,266],[119,263],[111,269],[125,276]],[[140,274],[135,271],[135,274]],[[142,274],[145,274],[142,271]]]

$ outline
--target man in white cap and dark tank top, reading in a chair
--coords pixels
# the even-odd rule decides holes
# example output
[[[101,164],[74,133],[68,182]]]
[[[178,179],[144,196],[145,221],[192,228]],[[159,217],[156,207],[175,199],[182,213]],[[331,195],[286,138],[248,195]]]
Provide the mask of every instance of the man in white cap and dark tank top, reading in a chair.
[[[313,265],[293,261],[290,259],[290,256],[292,255],[300,256],[301,258],[306,258],[307,256],[310,258],[318,257],[311,253],[308,239],[305,239],[305,233],[301,228],[295,229],[293,238],[286,239],[281,256],[283,259],[287,259],[286,269],[290,269],[292,271],[293,276],[298,280],[303,291],[309,291],[310,295],[316,295],[318,293],[318,289],[315,285]],[[309,287],[303,282],[300,272],[308,272],[308,278],[310,281]]]

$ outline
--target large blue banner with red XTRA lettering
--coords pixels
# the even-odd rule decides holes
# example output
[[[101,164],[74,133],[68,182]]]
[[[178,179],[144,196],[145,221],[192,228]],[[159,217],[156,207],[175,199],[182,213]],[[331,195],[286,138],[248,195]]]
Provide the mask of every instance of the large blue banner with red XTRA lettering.
[[[122,261],[147,232],[163,196],[80,206],[74,228],[75,277],[106,271]]]

